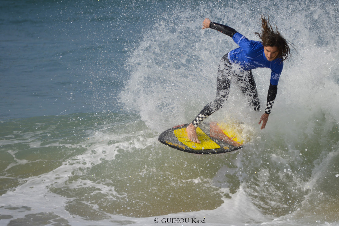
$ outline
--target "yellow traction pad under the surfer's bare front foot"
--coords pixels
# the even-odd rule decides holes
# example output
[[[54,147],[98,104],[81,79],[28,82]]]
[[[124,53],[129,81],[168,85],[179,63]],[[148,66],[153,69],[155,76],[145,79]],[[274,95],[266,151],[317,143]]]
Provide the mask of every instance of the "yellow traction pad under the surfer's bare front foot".
[[[186,128],[174,130],[174,135],[178,140],[194,150],[208,150],[208,149],[217,149],[220,146],[215,143],[209,136],[207,136],[199,127],[197,128],[198,139],[201,142],[200,144],[192,142],[188,139]]]

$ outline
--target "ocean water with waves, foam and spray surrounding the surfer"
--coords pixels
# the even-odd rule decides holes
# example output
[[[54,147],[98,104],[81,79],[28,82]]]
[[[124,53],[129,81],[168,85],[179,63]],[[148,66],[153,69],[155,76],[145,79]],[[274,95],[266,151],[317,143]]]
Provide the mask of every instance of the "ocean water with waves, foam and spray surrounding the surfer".
[[[1,225],[338,225],[339,2],[0,3]],[[206,120],[241,120],[244,148],[160,144],[214,98],[228,36],[260,15],[294,44],[267,126],[236,87]],[[270,70],[253,71],[265,102]],[[197,222],[197,223],[196,223]]]

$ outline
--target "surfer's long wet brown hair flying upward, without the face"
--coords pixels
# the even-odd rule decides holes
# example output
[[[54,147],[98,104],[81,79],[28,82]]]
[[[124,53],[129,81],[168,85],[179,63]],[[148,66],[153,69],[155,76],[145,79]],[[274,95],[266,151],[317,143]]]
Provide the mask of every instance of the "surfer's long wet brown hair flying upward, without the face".
[[[266,19],[263,15],[261,16],[261,33],[255,32],[262,42],[263,46],[276,46],[279,50],[278,57],[282,59],[282,61],[287,60],[292,57],[290,53],[290,45],[289,43],[279,32],[276,26],[276,31],[273,30],[270,21],[268,21],[270,17]],[[292,46],[292,45],[291,45]],[[292,48],[294,48],[292,46]]]

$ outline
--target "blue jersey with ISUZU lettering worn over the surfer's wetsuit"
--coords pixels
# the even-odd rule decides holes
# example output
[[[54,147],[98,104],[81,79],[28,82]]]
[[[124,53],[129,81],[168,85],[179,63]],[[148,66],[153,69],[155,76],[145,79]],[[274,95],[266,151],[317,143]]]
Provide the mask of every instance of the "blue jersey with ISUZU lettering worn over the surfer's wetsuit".
[[[248,40],[240,33],[233,35],[233,40],[240,47],[228,53],[228,59],[232,63],[238,63],[242,69],[251,70],[256,68],[270,68],[271,84],[278,85],[279,77],[284,63],[281,58],[268,61],[264,53],[264,46],[259,41]]]

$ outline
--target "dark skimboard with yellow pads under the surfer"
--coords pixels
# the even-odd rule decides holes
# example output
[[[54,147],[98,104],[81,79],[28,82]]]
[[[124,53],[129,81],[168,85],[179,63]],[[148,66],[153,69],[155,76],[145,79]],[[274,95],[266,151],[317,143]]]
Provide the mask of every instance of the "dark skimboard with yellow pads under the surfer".
[[[187,137],[186,127],[189,124],[175,126],[165,130],[158,140],[171,148],[194,154],[219,154],[235,151],[247,143],[240,124],[202,122],[197,128],[200,144]]]

